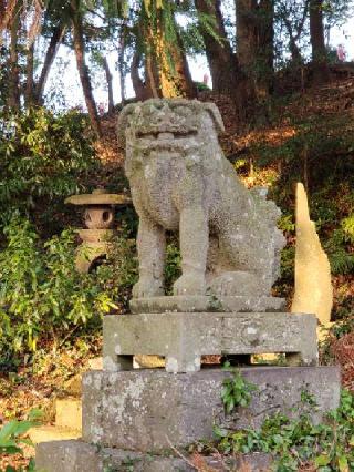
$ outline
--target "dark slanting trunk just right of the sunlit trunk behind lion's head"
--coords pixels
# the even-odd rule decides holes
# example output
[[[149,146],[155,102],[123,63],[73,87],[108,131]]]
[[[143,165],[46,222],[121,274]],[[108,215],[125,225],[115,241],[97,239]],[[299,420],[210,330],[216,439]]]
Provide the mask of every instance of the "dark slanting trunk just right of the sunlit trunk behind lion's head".
[[[221,0],[196,0],[196,7],[199,14],[208,14],[214,18],[215,33],[219,38],[219,40],[215,38],[199,23],[200,33],[206,45],[212,90],[217,93],[233,96],[238,86],[238,63],[226,34],[220,8]]]

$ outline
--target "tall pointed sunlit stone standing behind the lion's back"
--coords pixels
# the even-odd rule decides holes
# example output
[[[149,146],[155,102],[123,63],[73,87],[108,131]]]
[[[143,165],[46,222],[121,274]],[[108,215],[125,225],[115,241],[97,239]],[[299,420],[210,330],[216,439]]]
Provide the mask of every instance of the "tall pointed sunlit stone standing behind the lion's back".
[[[295,294],[292,312],[313,312],[323,325],[331,321],[331,266],[315,225],[310,220],[306,192],[296,188]]]

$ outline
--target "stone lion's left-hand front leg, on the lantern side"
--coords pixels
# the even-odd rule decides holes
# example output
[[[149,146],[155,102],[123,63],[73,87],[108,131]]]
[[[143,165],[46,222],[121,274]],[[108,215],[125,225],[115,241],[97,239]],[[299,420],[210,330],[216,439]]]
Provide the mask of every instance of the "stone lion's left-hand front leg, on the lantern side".
[[[139,280],[133,288],[134,298],[164,295],[165,230],[146,216],[140,216],[137,235]]]

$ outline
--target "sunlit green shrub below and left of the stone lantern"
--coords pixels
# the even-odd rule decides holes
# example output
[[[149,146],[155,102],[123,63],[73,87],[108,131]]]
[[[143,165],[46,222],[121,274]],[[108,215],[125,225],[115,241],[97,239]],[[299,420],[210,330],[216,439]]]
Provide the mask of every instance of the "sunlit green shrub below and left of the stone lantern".
[[[114,307],[114,290],[97,273],[81,275],[74,267],[74,233],[65,230],[41,242],[31,224],[14,216],[4,228],[0,252],[0,352],[33,351],[40,339],[100,326]]]

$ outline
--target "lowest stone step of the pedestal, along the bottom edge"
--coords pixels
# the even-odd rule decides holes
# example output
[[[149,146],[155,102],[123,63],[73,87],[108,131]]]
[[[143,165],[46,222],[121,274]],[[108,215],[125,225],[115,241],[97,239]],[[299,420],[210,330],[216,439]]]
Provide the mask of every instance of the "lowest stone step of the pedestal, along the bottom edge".
[[[194,472],[196,468],[181,458],[159,456],[113,448],[97,448],[83,441],[55,441],[37,448],[35,463],[41,472]],[[70,460],[71,462],[67,462]],[[205,458],[215,471],[225,471],[217,458]],[[239,470],[243,465],[249,472],[266,472],[271,463],[268,454],[246,454],[241,460],[228,461]],[[230,469],[231,470],[231,469]],[[246,469],[244,469],[246,470]]]

